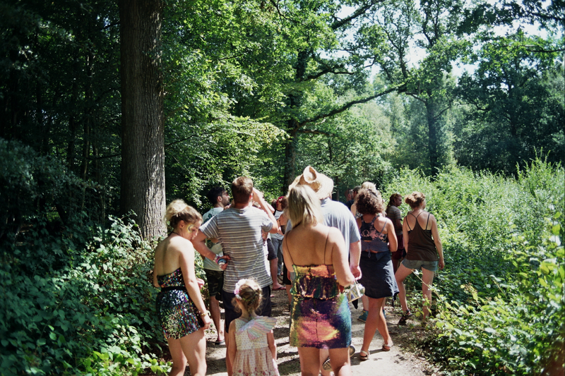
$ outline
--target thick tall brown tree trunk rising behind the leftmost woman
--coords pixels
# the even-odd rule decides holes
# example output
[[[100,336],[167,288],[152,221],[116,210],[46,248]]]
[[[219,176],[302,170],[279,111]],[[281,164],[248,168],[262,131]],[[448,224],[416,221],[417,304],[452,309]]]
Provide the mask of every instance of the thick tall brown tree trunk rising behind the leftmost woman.
[[[165,231],[161,0],[119,0],[120,211],[136,213],[144,238]]]

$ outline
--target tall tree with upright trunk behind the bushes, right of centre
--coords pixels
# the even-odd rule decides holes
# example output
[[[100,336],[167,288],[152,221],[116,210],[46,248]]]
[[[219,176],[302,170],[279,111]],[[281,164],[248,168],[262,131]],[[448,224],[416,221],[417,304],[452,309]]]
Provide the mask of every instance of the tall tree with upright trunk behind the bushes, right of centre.
[[[436,174],[450,159],[446,113],[453,102],[451,63],[468,47],[456,32],[462,21],[462,1],[393,1],[376,18],[391,44],[381,59],[388,79],[407,83],[406,94],[425,111],[427,172]],[[415,61],[415,47],[422,58]],[[451,87],[450,87],[451,86]]]

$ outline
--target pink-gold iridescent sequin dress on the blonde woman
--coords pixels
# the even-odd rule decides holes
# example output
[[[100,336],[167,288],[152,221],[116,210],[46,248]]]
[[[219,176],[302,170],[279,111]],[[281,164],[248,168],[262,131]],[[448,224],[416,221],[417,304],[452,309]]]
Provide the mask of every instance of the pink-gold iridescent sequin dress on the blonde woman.
[[[290,346],[346,348],[351,344],[351,311],[333,265],[292,265]]]

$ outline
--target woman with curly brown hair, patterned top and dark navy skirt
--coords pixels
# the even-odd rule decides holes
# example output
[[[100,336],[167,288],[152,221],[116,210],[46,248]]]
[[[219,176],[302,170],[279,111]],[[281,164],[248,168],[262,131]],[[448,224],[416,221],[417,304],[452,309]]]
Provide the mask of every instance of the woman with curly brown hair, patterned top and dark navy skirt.
[[[369,359],[369,346],[377,329],[384,341],[381,350],[390,351],[393,346],[383,307],[385,298],[398,293],[391,258],[391,252],[396,252],[398,243],[393,222],[382,215],[383,207],[380,193],[369,189],[359,190],[357,210],[362,214],[362,217],[357,218],[362,250],[359,260],[362,277],[359,282],[365,286],[365,296],[369,303],[363,346],[359,351],[360,360]]]

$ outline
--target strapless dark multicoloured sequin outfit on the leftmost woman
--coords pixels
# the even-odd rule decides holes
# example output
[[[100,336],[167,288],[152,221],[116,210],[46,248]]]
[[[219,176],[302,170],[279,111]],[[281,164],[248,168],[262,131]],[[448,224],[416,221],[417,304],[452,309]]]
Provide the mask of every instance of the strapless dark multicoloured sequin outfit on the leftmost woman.
[[[165,339],[180,339],[204,326],[198,308],[184,286],[181,268],[157,276],[157,282],[161,286],[157,294],[157,317]]]

